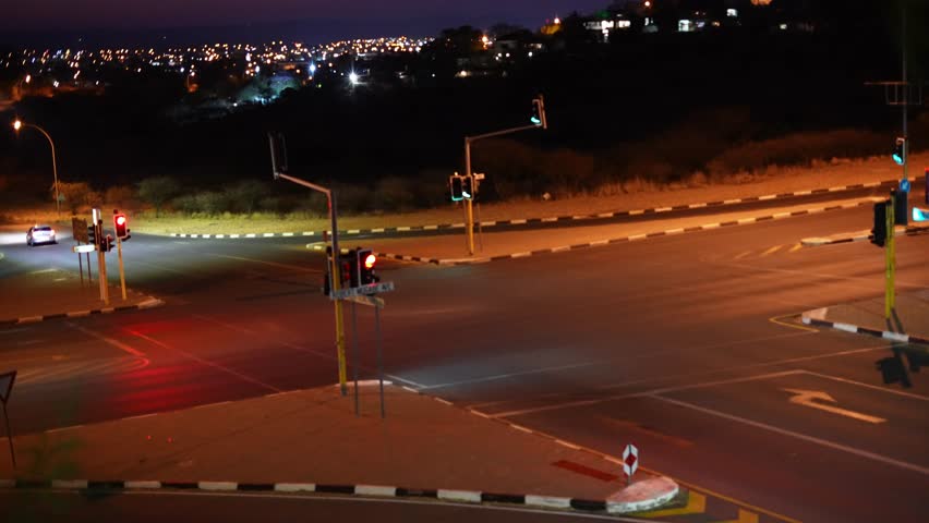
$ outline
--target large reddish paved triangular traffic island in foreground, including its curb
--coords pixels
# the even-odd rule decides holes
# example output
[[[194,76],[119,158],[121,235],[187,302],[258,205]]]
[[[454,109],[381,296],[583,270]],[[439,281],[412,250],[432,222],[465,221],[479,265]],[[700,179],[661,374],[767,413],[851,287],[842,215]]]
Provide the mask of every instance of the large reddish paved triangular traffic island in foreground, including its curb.
[[[17,482],[0,486],[60,479],[71,482],[57,486],[87,488],[86,479],[114,488],[426,496],[613,513],[679,496],[674,482],[641,470],[635,488],[624,489],[618,459],[408,389],[385,385],[381,418],[376,381],[359,389],[360,416],[352,387],[341,397],[330,386],[17,436],[17,471],[0,459],[0,478]],[[7,441],[0,447],[5,454]]]

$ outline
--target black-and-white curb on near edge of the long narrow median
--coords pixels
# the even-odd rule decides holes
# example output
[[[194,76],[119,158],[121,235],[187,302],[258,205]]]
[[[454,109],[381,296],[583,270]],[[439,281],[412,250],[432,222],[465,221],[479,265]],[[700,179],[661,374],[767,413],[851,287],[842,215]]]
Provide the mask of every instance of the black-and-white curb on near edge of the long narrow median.
[[[638,242],[638,241],[642,241],[642,240],[651,240],[653,238],[672,236],[672,235],[675,235],[675,234],[684,234],[684,233],[688,233],[688,232],[709,231],[709,230],[713,230],[713,229],[720,229],[720,228],[723,228],[723,227],[747,226],[747,224],[750,224],[750,223],[758,223],[758,222],[761,222],[761,221],[781,220],[781,219],[784,219],[784,218],[793,218],[793,217],[805,216],[805,215],[816,215],[816,214],[819,214],[819,212],[825,212],[825,211],[830,211],[830,210],[853,209],[855,207],[860,207],[862,205],[868,205],[870,203],[871,203],[871,200],[867,199],[867,200],[856,202],[854,204],[832,205],[832,206],[829,206],[829,207],[817,207],[817,208],[811,208],[811,209],[795,210],[795,211],[792,211],[792,212],[776,212],[774,215],[769,215],[769,216],[760,216],[760,217],[755,217],[755,218],[743,218],[740,220],[729,220],[729,221],[722,221],[722,222],[715,222],[715,223],[704,223],[702,226],[668,229],[668,230],[665,230],[665,231],[649,232],[649,233],[646,233],[646,234],[632,234],[630,236],[614,238],[614,239],[610,239],[610,240],[598,240],[595,242],[578,243],[578,244],[574,244],[574,245],[562,245],[562,246],[558,246],[558,247],[540,248],[540,250],[536,250],[536,251],[528,251],[528,252],[514,253],[514,254],[503,254],[503,255],[499,255],[499,256],[490,256],[490,257],[445,259],[445,258],[426,258],[426,257],[422,257],[422,256],[408,256],[408,255],[394,254],[394,253],[375,253],[375,255],[377,255],[378,257],[382,257],[382,258],[395,259],[395,260],[398,260],[398,262],[417,262],[417,263],[421,263],[421,264],[432,264],[432,265],[486,264],[488,262],[499,262],[499,260],[503,260],[503,259],[527,258],[527,257],[530,257],[530,256],[538,256],[538,255],[541,255],[541,254],[563,253],[563,252],[566,252],[566,251],[577,251],[577,250],[580,250],[580,248],[600,247],[600,246],[603,246],[603,245],[613,245],[613,244],[617,244],[617,243]],[[323,248],[322,246],[319,246],[317,244],[307,244],[306,247],[307,248],[315,248],[315,250],[322,250]],[[348,251],[342,250],[342,252],[348,252]]]

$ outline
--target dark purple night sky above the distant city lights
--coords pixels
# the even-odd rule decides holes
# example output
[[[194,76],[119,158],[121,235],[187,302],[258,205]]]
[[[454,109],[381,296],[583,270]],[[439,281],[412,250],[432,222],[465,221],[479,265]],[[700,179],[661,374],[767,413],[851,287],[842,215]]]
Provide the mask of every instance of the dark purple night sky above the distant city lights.
[[[177,27],[288,27],[305,22],[307,40],[436,35],[444,27],[497,22],[536,28],[611,0],[45,0],[4,9],[0,32],[94,32]],[[309,34],[307,34],[309,33]]]

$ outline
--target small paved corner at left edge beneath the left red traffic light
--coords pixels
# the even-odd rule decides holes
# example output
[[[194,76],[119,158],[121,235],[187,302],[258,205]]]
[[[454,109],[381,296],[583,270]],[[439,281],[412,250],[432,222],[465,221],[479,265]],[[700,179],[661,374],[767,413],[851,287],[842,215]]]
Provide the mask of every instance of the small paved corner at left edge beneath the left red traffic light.
[[[10,260],[0,260],[11,264]],[[96,273],[94,277],[96,278]],[[148,308],[161,305],[160,300],[126,289],[122,299],[119,285],[110,287],[110,303],[100,300],[99,284],[95,279],[84,284],[77,273],[45,269],[17,270],[2,278],[3,300],[0,300],[0,325],[26,324],[59,317],[80,317],[118,311]]]

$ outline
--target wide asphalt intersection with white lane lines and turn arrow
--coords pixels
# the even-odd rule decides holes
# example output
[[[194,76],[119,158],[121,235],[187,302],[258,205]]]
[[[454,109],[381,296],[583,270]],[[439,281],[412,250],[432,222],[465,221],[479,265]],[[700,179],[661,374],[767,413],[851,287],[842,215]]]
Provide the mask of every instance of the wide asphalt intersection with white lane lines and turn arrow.
[[[602,452],[634,441],[642,466],[719,495],[711,514],[731,498],[762,521],[924,521],[929,378],[884,386],[874,362],[890,344],[792,320],[883,292],[883,253],[868,243],[789,248],[870,219],[860,207],[478,266],[384,263],[397,285],[384,296],[385,367]],[[0,331],[0,364],[24,372],[14,428],[334,382],[324,262],[304,244],[135,235],[129,283],[167,305]],[[4,252],[76,265],[65,245]],[[929,288],[927,254],[929,236],[898,241],[901,292]],[[367,376],[372,317],[359,307]]]

